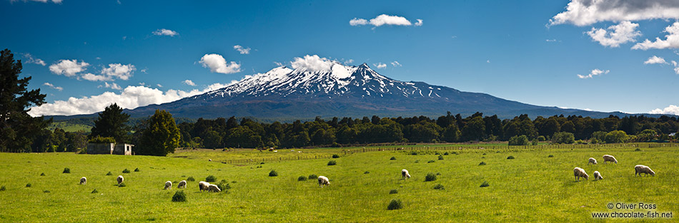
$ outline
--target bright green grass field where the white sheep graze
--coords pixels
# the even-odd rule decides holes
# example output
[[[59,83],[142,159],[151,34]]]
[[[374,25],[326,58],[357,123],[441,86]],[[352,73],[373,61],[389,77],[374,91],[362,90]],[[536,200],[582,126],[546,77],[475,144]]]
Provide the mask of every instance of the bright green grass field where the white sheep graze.
[[[0,153],[0,187],[6,187],[0,191],[0,221],[603,222],[593,219],[592,212],[678,212],[679,147],[637,148],[465,147],[347,155],[337,148],[305,149],[304,155],[341,157],[248,165],[216,161],[275,159],[299,152],[179,150],[169,157]],[[411,155],[413,151],[418,155]],[[442,155],[445,152],[449,155]],[[618,158],[618,164],[603,164],[605,154]],[[508,156],[515,159],[507,160]],[[588,157],[595,157],[599,164],[588,165]],[[327,165],[329,160],[337,165]],[[635,177],[633,167],[638,164],[648,165],[657,175]],[[576,166],[583,167],[590,180],[575,182]],[[64,167],[71,173],[61,173]],[[122,173],[135,168],[140,172]],[[402,169],[410,170],[410,180],[401,180]],[[278,176],[269,177],[271,170]],[[595,170],[603,180],[592,180]],[[440,175],[425,182],[428,172]],[[327,176],[331,185],[320,188],[315,179],[297,181],[299,176],[312,174]],[[117,175],[125,177],[126,187],[117,187]],[[208,175],[218,182],[227,180],[232,188],[199,192],[197,182]],[[79,185],[80,177],[87,177],[86,185]],[[162,190],[165,181],[187,177],[196,179],[187,189]],[[480,187],[482,182],[490,186]],[[435,185],[444,189],[435,190]],[[187,193],[188,202],[171,201],[177,190]],[[390,190],[397,193],[390,194]],[[387,210],[392,199],[400,199],[403,208]],[[609,202],[644,202],[657,208],[608,209]]]

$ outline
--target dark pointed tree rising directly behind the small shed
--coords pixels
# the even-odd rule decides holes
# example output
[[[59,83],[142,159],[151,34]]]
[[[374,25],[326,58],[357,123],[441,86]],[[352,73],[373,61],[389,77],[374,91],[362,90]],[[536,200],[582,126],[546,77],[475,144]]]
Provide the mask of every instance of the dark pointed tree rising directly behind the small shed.
[[[119,143],[129,142],[127,132],[130,128],[125,124],[128,119],[129,115],[123,113],[123,109],[113,103],[104,108],[104,111],[99,113],[99,118],[94,120],[94,127],[92,127],[89,138],[96,136],[112,137]]]

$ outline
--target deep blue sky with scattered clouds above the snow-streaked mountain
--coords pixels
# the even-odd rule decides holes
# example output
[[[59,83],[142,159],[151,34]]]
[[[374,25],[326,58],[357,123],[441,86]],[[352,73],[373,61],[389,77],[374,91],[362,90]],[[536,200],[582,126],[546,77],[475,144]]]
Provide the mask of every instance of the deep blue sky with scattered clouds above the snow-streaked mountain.
[[[164,103],[305,55],[534,105],[679,115],[677,11],[660,0],[1,1],[0,43],[47,94],[33,115]]]

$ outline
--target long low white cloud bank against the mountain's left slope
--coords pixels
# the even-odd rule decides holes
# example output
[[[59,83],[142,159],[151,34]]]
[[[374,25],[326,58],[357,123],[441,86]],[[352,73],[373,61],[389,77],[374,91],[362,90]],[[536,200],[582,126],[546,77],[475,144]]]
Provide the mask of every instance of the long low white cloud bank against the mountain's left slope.
[[[104,110],[111,103],[117,103],[121,108],[133,109],[151,104],[169,103],[174,100],[199,95],[208,91],[224,88],[229,84],[214,83],[202,90],[190,91],[167,90],[163,92],[156,88],[145,86],[128,86],[121,93],[104,92],[101,95],[74,98],[69,100],[56,100],[54,103],[45,103],[39,107],[31,108],[29,115],[79,115],[91,114]]]

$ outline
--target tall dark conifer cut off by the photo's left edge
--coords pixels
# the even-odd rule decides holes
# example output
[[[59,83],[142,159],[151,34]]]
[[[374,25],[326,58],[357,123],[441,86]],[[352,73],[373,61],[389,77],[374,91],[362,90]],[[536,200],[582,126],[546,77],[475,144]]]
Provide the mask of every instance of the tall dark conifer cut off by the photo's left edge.
[[[34,136],[47,128],[51,119],[31,117],[31,105],[45,103],[40,89],[26,90],[31,77],[19,79],[21,60],[14,61],[9,49],[0,52],[0,151],[28,152]]]

